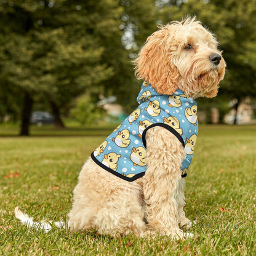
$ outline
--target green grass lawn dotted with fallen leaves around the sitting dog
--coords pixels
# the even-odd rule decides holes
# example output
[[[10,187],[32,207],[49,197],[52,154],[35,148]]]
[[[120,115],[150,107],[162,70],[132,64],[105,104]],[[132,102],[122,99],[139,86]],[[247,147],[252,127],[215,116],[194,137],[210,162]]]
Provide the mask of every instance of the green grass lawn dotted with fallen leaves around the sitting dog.
[[[1,255],[256,255],[256,126],[200,127],[185,191],[186,215],[198,222],[193,239],[111,239],[22,226],[15,206],[35,221],[65,219],[83,162],[113,128],[34,127],[26,138],[0,127]]]

